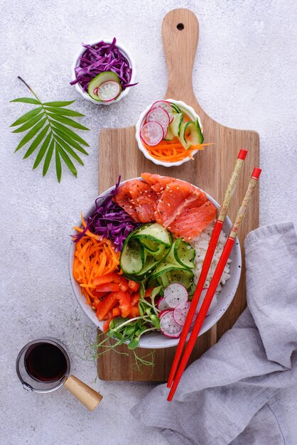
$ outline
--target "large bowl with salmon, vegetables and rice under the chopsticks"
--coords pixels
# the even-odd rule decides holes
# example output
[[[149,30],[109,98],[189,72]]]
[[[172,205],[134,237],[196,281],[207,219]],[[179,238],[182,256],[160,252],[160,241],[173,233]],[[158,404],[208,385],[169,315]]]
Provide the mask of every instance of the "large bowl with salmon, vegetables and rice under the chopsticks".
[[[138,198],[133,195],[133,191],[138,193]],[[180,193],[182,195],[179,195]],[[188,198],[185,198],[185,193],[188,193]],[[180,205],[184,211],[174,213],[171,205],[173,202],[178,202],[178,196],[180,200],[175,210],[178,210]],[[192,199],[192,205],[187,213],[189,199]],[[157,207],[151,204],[153,200],[156,200]],[[167,213],[166,207],[170,209]],[[130,321],[134,324],[140,323],[139,326],[144,323],[142,331],[137,331],[137,341],[129,338],[123,342],[133,347],[136,345],[141,348],[158,349],[177,345],[183,326],[182,320],[178,320],[180,328],[177,327],[177,331],[173,330],[173,335],[171,331],[169,333],[166,331],[167,328],[160,327],[162,318],[166,318],[166,312],[170,312],[173,306],[168,307],[166,299],[168,289],[172,294],[177,285],[178,292],[181,290],[183,297],[184,294],[187,295],[187,303],[181,297],[178,303],[190,304],[218,208],[218,203],[197,186],[176,178],[151,173],[142,173],[140,178],[122,182],[119,178],[116,186],[108,188],[99,195],[95,203],[84,213],[84,217],[82,216],[82,223],[74,227],[69,257],[72,290],[90,321],[99,330],[111,333],[117,331],[117,326],[129,326]],[[193,222],[187,225],[185,218],[192,212],[195,213],[195,225]],[[198,215],[201,212],[203,217],[199,219]],[[171,218],[173,214],[175,219]],[[166,220],[168,215],[171,223]],[[119,220],[123,224],[112,227],[111,221],[119,223]],[[231,227],[232,222],[227,217],[205,282],[206,288],[215,272]],[[103,243],[105,251],[102,250]],[[87,259],[82,258],[88,249],[91,252],[90,256],[87,254]],[[101,254],[95,258],[97,250]],[[109,256],[116,259],[113,258],[109,262]],[[112,263],[114,261],[115,265]],[[200,335],[212,328],[231,304],[239,284],[241,263],[241,250],[237,240]],[[121,288],[122,285],[126,287]],[[202,292],[198,309],[204,296]],[[127,299],[131,305],[129,308]],[[179,310],[180,306],[177,304],[176,308]],[[172,316],[173,314],[175,316],[176,308],[174,312],[172,309]],[[186,316],[185,306],[182,315]]]

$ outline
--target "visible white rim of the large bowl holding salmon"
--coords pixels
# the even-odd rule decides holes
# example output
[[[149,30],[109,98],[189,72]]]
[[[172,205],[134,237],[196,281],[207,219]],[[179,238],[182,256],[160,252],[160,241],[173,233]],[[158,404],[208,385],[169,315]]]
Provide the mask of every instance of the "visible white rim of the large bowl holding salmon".
[[[141,178],[138,178],[141,179]],[[122,181],[121,184],[124,184],[126,181]],[[121,185],[120,184],[120,185]],[[100,196],[105,196],[107,193],[112,191],[114,187],[110,187],[107,191],[102,193]],[[211,200],[212,203],[215,204],[217,208],[219,208],[219,204],[217,201],[215,201],[213,198],[211,198],[210,195],[207,195],[207,198]],[[89,210],[87,210],[86,213],[83,213],[85,217],[91,215],[93,211],[95,210],[95,204],[92,205]],[[81,223],[78,223],[77,226],[80,227]],[[227,217],[225,219],[225,223],[222,227],[222,230],[225,232],[226,235],[229,235],[229,230],[232,227],[231,220]],[[73,234],[75,235],[76,232]],[[70,245],[70,256],[69,256],[69,274],[70,274],[70,283],[72,286],[72,290],[76,296],[76,299],[78,303],[80,304],[82,310],[85,312],[86,316],[90,318],[90,321],[97,326],[102,331],[103,323],[102,321],[99,321],[96,312],[92,310],[92,308],[87,304],[85,296],[82,295],[80,291],[80,285],[75,281],[75,279],[72,276],[72,265],[73,265],[73,259],[74,259],[74,252],[75,252],[75,242],[71,242]],[[222,291],[220,291],[220,294],[217,296],[217,306],[215,306],[215,309],[212,311],[210,315],[208,315],[205,318],[204,323],[202,324],[202,328],[200,331],[200,336],[202,333],[205,333],[208,331],[208,329],[212,328],[212,326],[217,323],[218,320],[224,315],[225,311],[227,311],[229,305],[232,302],[232,299],[234,298],[234,295],[237,291],[237,286],[239,284],[240,274],[241,274],[241,266],[242,266],[242,254],[239,246],[239,241],[236,240],[234,247],[232,249],[232,252],[230,254],[231,263],[230,263],[230,275],[231,277],[227,280],[227,282],[222,286]],[[153,332],[148,333],[145,336],[141,337],[141,340],[139,342],[139,347],[141,348],[153,348],[153,349],[160,349],[160,348],[172,348],[173,346],[178,345],[178,338],[169,338],[166,336],[163,336],[162,333],[159,332]]]

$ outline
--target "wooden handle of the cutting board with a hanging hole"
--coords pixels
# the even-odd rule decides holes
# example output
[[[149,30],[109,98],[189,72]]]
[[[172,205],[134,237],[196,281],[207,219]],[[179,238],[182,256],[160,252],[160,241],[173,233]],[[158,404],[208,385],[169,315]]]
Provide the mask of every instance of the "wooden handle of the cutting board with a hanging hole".
[[[162,37],[168,68],[166,97],[183,100],[195,108],[192,71],[198,36],[199,23],[192,11],[173,9],[164,17]]]

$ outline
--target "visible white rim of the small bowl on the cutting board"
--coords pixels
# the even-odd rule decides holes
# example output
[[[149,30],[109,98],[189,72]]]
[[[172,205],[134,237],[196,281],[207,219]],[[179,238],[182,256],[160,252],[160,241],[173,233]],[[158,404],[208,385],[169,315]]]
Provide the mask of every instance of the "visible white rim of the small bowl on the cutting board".
[[[166,102],[173,102],[173,104],[177,104],[178,107],[180,107],[181,111],[183,111],[185,114],[188,114],[188,116],[195,121],[196,119],[198,119],[199,125],[200,125],[200,129],[201,132],[203,132],[203,127],[201,124],[201,119],[198,116],[198,114],[195,112],[195,110],[190,107],[190,105],[185,104],[185,102],[182,102],[181,100],[175,100],[175,99],[166,99]],[[153,102],[154,103],[154,102]],[[137,144],[139,146],[139,150],[142,151],[142,153],[144,154],[144,156],[146,156],[146,159],[149,159],[150,161],[152,161],[153,163],[156,163],[157,166],[163,166],[163,167],[174,167],[174,166],[181,166],[182,163],[191,161],[191,159],[189,157],[182,159],[182,161],[176,161],[176,162],[166,162],[166,161],[158,161],[158,159],[153,158],[153,156],[151,156],[146,147],[144,146],[144,143],[140,137],[140,129],[142,126],[142,123],[144,122],[144,119],[146,117],[146,114],[149,112],[149,110],[151,109],[151,106],[153,104],[148,105],[148,107],[146,107],[146,109],[144,110],[144,112],[141,113],[141,115],[139,116],[139,119],[137,121],[136,124],[136,141]],[[200,150],[195,150],[192,152],[193,156],[195,156],[195,154],[200,151]]]

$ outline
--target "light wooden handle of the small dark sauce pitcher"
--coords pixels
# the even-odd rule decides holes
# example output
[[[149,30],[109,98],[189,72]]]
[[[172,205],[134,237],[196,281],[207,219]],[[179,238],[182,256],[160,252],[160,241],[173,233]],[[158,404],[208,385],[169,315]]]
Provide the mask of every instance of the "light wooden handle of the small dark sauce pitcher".
[[[93,411],[102,400],[102,395],[99,392],[87,386],[74,375],[68,377],[64,386],[90,411]]]

